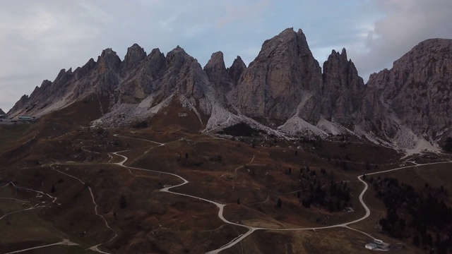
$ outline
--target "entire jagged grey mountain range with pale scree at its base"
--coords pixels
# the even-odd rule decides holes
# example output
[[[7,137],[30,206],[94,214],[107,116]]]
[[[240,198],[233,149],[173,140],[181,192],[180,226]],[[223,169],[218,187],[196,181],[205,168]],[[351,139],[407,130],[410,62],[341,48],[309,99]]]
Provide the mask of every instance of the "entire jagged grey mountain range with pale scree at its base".
[[[249,66],[237,56],[226,68],[215,52],[202,67],[179,46],[165,56],[133,44],[123,61],[105,49],[97,61],[62,69],[8,114],[42,116],[98,100],[102,117],[93,124],[131,126],[184,107],[200,133],[245,123],[286,138],[355,135],[408,153],[436,151],[452,134],[451,53],[452,40],[425,40],[364,84],[345,49],[333,50],[321,68],[302,30],[293,28],[263,42]]]

